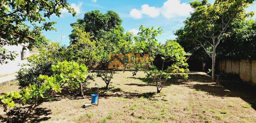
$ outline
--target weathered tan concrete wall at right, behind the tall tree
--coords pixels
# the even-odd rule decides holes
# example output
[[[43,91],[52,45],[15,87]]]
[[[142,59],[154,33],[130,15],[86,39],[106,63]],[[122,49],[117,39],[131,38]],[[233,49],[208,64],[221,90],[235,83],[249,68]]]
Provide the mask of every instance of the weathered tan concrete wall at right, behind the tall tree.
[[[243,81],[256,85],[256,60],[222,59],[217,65],[218,71],[238,74]]]

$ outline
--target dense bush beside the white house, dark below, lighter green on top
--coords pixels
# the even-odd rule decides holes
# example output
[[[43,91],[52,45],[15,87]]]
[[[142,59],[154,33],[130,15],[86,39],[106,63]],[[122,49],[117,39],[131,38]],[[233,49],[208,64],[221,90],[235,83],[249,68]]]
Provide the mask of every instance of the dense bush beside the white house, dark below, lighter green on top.
[[[51,45],[48,47],[40,48],[39,54],[33,54],[33,56],[29,56],[26,59],[29,63],[22,64],[16,76],[19,86],[21,88],[29,86],[29,84],[40,86],[42,83],[36,78],[40,74],[47,76],[54,75],[55,72],[51,70],[51,65],[65,59],[65,47],[59,46],[59,43],[51,42]]]

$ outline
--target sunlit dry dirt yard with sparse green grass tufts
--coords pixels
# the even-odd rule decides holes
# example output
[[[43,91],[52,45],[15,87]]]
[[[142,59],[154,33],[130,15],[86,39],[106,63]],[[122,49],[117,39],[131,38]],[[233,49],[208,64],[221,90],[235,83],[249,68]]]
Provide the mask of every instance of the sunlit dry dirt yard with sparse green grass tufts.
[[[85,99],[61,94],[39,106],[28,122],[256,122],[256,91],[233,89],[211,83],[203,72],[190,72],[187,80],[172,78],[161,93],[143,72],[117,72],[109,90],[100,84],[99,106],[82,108],[97,93],[91,82]],[[222,81],[225,83],[225,81]],[[0,93],[18,90],[17,85],[0,88]],[[0,108],[0,117],[4,118]]]

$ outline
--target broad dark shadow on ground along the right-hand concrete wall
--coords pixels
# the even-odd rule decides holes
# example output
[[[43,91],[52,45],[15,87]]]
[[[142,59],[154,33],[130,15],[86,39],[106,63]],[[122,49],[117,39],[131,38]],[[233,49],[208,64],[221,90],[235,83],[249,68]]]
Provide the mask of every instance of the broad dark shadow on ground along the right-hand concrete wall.
[[[211,78],[202,74],[190,74],[188,81],[199,82],[198,84],[187,84],[186,86],[196,90],[202,90],[209,95],[218,97],[239,97],[251,104],[256,110],[256,87],[237,78],[233,80],[217,80],[212,83]],[[204,79],[204,80],[202,80]]]

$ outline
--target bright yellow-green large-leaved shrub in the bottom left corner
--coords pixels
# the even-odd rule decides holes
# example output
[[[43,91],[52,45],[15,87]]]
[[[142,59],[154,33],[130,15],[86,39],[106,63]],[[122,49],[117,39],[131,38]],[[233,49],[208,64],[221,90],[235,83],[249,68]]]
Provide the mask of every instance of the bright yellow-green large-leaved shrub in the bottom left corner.
[[[7,92],[4,96],[0,96],[1,106],[4,108],[4,112],[7,112],[7,116],[9,121],[13,118],[11,116],[11,108],[16,108],[16,116],[20,116],[18,121],[26,121],[27,117],[31,114],[31,112],[35,109],[35,107],[41,105],[44,100],[47,98],[52,99],[50,95],[52,93],[61,93],[60,83],[56,80],[55,77],[48,76],[39,76],[39,81],[43,82],[41,86],[36,84],[29,84],[28,87],[23,88],[21,92],[12,91]],[[21,114],[21,105],[28,105],[28,109]],[[9,111],[8,111],[9,110]]]

